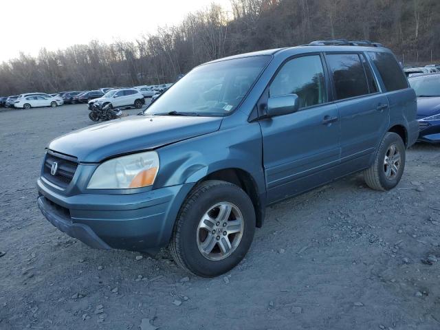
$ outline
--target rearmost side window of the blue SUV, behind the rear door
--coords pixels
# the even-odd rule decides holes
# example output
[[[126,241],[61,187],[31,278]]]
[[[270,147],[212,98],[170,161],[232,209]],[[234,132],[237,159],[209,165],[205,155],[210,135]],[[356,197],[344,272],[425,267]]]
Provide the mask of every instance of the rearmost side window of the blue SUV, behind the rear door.
[[[369,52],[369,56],[384,80],[387,91],[397,91],[408,88],[408,80],[397,63],[393,54],[384,52]]]

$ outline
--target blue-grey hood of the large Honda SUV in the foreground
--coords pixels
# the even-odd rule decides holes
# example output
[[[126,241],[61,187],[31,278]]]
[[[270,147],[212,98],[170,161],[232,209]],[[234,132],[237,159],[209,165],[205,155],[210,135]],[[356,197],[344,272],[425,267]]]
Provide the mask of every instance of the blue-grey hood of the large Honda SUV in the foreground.
[[[78,157],[79,162],[95,163],[114,155],[212,133],[220,128],[221,120],[221,117],[134,115],[61,135],[50,142],[49,148]]]

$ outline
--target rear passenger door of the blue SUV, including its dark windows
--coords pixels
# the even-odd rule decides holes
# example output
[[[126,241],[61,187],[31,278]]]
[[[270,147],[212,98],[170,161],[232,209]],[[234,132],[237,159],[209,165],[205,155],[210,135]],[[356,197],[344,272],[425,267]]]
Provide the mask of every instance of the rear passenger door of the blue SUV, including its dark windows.
[[[341,162],[347,162],[343,170],[349,173],[369,164],[388,129],[388,99],[364,54],[327,53],[325,58],[341,118]]]

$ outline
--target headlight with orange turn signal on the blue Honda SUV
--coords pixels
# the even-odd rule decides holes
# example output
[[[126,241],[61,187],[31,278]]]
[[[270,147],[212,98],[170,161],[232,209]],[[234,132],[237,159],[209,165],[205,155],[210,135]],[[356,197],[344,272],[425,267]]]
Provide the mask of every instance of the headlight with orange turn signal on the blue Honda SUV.
[[[89,189],[129,189],[151,186],[159,170],[155,151],[107,160],[91,176]]]

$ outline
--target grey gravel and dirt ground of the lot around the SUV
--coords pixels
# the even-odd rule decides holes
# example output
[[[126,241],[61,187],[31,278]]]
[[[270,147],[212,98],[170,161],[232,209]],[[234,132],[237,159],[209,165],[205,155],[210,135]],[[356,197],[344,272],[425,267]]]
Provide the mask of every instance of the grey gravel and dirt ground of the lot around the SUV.
[[[92,250],[39,212],[44,147],[87,113],[0,111],[1,330],[440,329],[440,147],[411,148],[390,192],[352,175],[270,208],[245,260],[206,279]]]

